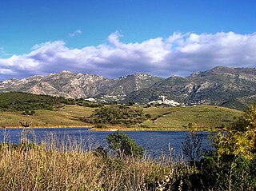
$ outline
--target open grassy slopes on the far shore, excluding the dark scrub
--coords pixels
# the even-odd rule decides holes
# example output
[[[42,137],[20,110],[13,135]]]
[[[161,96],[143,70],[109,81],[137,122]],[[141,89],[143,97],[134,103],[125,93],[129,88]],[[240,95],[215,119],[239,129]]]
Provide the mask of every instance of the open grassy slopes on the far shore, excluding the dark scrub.
[[[96,108],[97,109],[97,108]],[[190,107],[142,107],[143,113],[149,114],[146,121],[131,125],[106,125],[95,130],[188,130],[191,123],[198,130],[216,130],[226,128],[242,115],[241,111],[212,105]],[[93,127],[93,124],[81,121],[89,117],[95,108],[79,105],[62,105],[53,110],[38,109],[33,115],[24,115],[21,111],[0,112],[0,126],[18,127],[22,119],[32,122],[32,127]]]

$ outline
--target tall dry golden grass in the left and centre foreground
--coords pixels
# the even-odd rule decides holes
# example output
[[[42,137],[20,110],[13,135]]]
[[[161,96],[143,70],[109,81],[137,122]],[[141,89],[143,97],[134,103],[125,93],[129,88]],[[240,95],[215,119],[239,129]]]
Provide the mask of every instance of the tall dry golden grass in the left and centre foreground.
[[[170,171],[152,160],[98,156],[79,144],[55,145],[55,140],[2,144],[0,190],[155,190]]]

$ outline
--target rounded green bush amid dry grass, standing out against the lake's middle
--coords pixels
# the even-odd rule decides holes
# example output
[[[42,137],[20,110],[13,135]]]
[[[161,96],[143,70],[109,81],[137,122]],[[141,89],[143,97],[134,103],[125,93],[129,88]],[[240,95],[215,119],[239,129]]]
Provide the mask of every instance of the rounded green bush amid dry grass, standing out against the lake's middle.
[[[133,139],[119,130],[108,135],[106,140],[108,141],[110,149],[113,149],[118,157],[142,157],[145,151],[142,146],[138,146]]]

